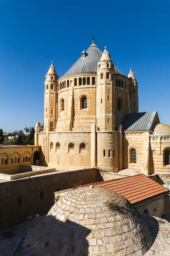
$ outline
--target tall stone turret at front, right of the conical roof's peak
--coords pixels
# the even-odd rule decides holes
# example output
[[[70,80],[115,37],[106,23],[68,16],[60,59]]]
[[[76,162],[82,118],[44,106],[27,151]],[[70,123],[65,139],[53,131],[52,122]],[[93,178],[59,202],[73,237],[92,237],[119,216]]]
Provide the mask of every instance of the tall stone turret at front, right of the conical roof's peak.
[[[114,64],[106,49],[97,65],[97,128],[115,129]]]

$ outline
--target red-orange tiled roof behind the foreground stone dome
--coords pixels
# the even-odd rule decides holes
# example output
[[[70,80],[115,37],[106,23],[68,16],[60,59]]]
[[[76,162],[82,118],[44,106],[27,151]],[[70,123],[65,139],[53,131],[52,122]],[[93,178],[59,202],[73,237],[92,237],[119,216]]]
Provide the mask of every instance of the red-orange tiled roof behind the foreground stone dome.
[[[95,182],[82,186],[93,185],[104,187],[123,195],[131,204],[165,193],[168,189],[151,180],[144,174],[119,178],[102,182]]]

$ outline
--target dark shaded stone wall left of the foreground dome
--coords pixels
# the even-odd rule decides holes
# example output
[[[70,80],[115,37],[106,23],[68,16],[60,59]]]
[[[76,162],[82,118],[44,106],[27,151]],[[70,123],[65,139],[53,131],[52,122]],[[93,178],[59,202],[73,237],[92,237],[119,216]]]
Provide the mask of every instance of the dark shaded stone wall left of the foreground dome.
[[[54,204],[54,192],[82,182],[103,180],[99,170],[56,172],[0,183],[0,231],[28,221],[29,216],[46,214]]]

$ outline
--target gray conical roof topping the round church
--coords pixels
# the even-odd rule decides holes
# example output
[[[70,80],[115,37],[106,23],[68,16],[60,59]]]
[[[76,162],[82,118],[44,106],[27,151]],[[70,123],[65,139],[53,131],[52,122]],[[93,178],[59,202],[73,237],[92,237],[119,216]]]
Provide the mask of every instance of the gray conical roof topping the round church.
[[[97,72],[97,63],[102,57],[102,52],[100,49],[97,47],[97,45],[92,43],[86,51],[82,52],[82,54],[84,53],[85,57],[81,56],[63,76]],[[115,66],[114,70],[116,74],[123,75]]]

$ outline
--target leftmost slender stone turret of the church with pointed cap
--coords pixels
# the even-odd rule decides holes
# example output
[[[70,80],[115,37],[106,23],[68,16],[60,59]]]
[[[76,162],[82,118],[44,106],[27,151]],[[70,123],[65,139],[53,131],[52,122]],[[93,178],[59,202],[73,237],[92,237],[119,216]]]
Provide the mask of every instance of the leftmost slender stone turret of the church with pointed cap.
[[[45,75],[45,93],[44,93],[44,131],[54,131],[57,121],[57,79],[58,75],[51,62],[49,71]]]

